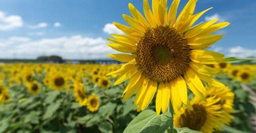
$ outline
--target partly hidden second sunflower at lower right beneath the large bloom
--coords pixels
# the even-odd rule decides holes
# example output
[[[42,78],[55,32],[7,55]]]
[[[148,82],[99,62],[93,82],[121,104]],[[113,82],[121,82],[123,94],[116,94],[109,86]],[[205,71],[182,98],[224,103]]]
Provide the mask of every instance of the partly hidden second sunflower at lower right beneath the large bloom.
[[[220,99],[217,97],[209,97],[207,101],[203,101],[199,97],[193,98],[191,100],[193,110],[183,106],[180,112],[174,115],[174,125],[205,133],[219,129],[219,124],[222,124],[224,119],[219,102]]]

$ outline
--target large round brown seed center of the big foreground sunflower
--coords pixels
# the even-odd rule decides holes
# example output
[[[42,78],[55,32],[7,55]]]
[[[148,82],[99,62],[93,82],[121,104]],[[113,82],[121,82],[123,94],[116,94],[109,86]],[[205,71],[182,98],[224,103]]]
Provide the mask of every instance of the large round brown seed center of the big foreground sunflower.
[[[189,46],[175,29],[159,26],[148,30],[137,45],[136,62],[142,74],[155,82],[169,82],[188,67]]]

